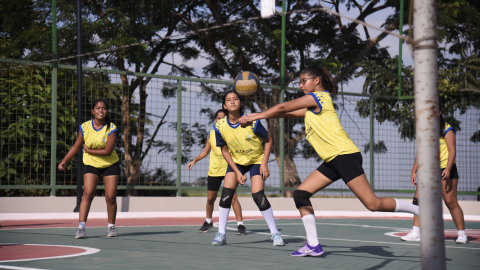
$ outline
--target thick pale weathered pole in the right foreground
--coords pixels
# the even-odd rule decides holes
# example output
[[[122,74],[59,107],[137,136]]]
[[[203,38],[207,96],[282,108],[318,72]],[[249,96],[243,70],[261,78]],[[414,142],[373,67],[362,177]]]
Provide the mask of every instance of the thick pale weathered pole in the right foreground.
[[[417,138],[422,269],[446,269],[442,185],[438,160],[437,4],[415,0],[413,8],[415,132]]]

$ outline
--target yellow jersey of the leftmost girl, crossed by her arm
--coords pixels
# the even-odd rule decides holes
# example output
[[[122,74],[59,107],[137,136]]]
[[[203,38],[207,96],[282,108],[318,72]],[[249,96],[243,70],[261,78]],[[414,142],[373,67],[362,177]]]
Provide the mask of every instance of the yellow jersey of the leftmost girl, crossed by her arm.
[[[117,131],[117,126],[114,123],[110,123],[110,128],[103,125],[100,129],[95,129],[93,126],[93,120],[87,121],[80,125],[80,131],[82,132],[83,141],[85,145],[92,150],[105,149],[107,145],[108,136]],[[103,169],[112,166],[117,163],[117,152],[113,149],[109,156],[97,156],[87,152],[83,152],[83,164],[90,165],[97,169]]]

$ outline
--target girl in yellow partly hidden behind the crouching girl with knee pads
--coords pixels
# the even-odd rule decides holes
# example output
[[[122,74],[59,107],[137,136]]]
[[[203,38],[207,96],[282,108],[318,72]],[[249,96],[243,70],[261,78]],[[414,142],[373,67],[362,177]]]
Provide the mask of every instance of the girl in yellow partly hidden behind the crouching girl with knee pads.
[[[220,121],[222,118],[225,117],[224,110],[218,110],[215,113],[215,123]],[[210,151],[211,149],[211,151]],[[197,161],[202,160],[210,153],[210,165],[208,167],[208,177],[207,177],[207,189],[208,189],[208,197],[207,197],[207,220],[203,223],[202,227],[200,228],[199,232],[208,232],[210,229],[213,228],[212,222],[212,213],[213,213],[213,204],[217,199],[217,193],[222,185],[222,181],[225,178],[225,173],[227,172],[227,162],[223,158],[222,152],[219,147],[217,147],[217,139],[215,137],[215,130],[210,130],[208,133],[208,140],[205,144],[205,148],[203,149],[198,156],[192,160],[192,162],[188,163],[187,167],[189,170],[193,168],[193,165]],[[237,218],[237,234],[244,235],[247,232],[247,229],[243,225],[243,217],[242,217],[242,207],[237,200],[237,193],[233,195],[232,199],[232,207],[233,212],[235,212],[235,216]]]

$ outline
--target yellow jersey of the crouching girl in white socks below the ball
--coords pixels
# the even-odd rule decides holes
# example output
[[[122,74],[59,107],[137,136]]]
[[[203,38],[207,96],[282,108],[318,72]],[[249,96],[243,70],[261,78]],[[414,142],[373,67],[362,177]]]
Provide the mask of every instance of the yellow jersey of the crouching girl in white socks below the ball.
[[[213,126],[217,139],[217,147],[227,145],[228,151],[237,165],[262,164],[262,138],[268,137],[268,132],[260,123],[254,121],[250,126],[242,128],[240,123],[230,124],[228,116],[222,118]]]

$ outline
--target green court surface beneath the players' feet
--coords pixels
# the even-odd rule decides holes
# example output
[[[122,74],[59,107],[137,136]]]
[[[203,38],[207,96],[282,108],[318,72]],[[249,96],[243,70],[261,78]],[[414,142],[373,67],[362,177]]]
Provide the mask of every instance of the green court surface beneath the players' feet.
[[[408,219],[317,219],[318,237],[325,250],[319,257],[290,256],[305,239],[300,219],[277,219],[286,244],[283,247],[272,246],[264,220],[246,220],[247,235],[236,235],[236,223],[230,221],[226,246],[212,246],[217,228],[199,233],[201,224],[119,227],[117,238],[108,238],[105,227],[87,227],[87,239],[74,239],[76,228],[2,229],[0,243],[81,246],[99,251],[31,261],[4,259],[0,268],[421,269],[419,242],[402,242],[386,235],[404,233],[411,224]],[[455,244],[447,238],[448,269],[479,269],[480,222],[466,222],[466,227],[471,230],[467,230],[472,236],[469,244]],[[454,228],[452,221],[445,221],[446,230]],[[0,253],[4,248],[0,246]],[[49,246],[42,248],[48,250]]]

